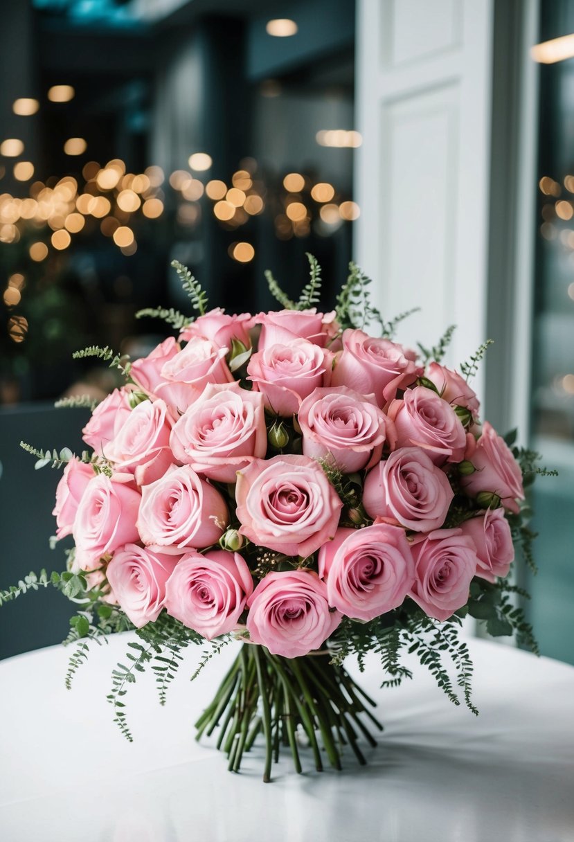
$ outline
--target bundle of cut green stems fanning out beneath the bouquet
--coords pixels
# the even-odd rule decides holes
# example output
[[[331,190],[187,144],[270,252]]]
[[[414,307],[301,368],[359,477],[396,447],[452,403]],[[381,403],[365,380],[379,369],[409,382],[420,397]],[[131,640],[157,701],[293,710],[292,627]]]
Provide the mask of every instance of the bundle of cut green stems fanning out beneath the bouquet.
[[[323,752],[334,769],[341,769],[345,745],[364,765],[359,735],[372,746],[376,740],[360,717],[382,731],[365,703],[375,706],[341,665],[330,662],[329,653],[282,658],[246,643],[195,722],[196,739],[219,728],[217,748],[226,753],[228,769],[238,772],[243,754],[263,733],[265,782],[271,781],[282,745],[289,746],[298,773],[301,744],[310,746],[317,771],[323,769]]]

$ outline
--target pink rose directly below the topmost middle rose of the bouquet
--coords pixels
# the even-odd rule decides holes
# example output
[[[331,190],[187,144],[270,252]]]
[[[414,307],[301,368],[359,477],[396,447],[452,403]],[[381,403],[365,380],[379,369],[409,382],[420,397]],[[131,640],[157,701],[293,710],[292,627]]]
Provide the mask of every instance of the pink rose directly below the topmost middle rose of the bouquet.
[[[263,394],[270,412],[293,415],[317,386],[326,385],[331,361],[329,351],[306,339],[294,339],[289,345],[271,345],[253,354],[247,364],[248,380]]]

